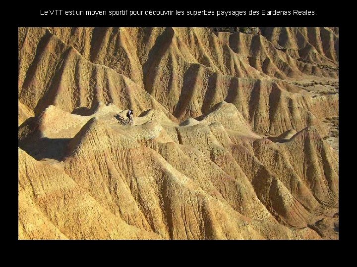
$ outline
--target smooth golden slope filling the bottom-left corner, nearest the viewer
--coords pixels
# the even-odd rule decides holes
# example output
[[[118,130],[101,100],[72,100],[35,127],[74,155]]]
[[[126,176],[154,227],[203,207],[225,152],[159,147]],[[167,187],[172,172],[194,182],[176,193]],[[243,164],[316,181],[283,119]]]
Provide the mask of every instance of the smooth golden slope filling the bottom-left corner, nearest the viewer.
[[[31,239],[160,239],[103,208],[60,167],[19,149],[19,237]],[[33,217],[30,214],[33,214]],[[34,223],[30,227],[30,223]]]

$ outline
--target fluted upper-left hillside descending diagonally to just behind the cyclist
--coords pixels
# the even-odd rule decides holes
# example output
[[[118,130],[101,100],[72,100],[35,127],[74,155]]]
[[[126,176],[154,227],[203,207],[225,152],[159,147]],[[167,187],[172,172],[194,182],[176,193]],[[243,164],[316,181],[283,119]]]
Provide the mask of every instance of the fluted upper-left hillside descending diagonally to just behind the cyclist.
[[[23,43],[19,43],[19,100],[35,114],[48,105],[70,112],[76,108],[91,112],[102,101],[122,109],[130,106],[139,112],[155,108],[174,119],[130,79],[84,59],[48,29],[19,28],[20,37]]]

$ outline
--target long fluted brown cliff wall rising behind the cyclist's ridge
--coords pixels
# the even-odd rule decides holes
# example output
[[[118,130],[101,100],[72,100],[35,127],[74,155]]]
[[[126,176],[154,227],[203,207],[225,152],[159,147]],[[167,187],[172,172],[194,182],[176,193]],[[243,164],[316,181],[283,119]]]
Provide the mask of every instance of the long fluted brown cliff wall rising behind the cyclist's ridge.
[[[221,38],[198,28],[20,28],[19,49],[20,101],[36,114],[49,104],[91,112],[103,101],[139,113],[159,109],[170,119],[184,121],[226,101],[236,105],[255,131],[272,135],[287,128],[300,131],[321,117],[308,104],[315,100],[308,94],[302,118],[286,115],[294,97],[274,100],[281,104],[273,112],[263,103],[256,105],[257,91],[265,88],[265,99],[280,98],[286,90],[299,95],[301,89],[294,84],[270,77],[332,75],[292,58],[261,35],[238,32]],[[270,96],[272,88],[276,92]],[[329,107],[331,100],[321,100],[328,106],[322,109],[328,112],[324,118],[338,115]],[[256,113],[269,117],[267,126],[257,126]],[[269,130],[274,120],[279,132],[276,126]]]

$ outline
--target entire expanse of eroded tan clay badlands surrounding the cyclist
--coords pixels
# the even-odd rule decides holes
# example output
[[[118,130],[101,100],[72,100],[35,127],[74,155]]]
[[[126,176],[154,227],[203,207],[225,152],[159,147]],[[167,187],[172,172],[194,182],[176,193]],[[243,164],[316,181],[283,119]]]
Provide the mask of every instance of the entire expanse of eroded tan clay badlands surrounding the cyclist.
[[[19,239],[338,239],[338,28],[214,29],[18,29]]]

